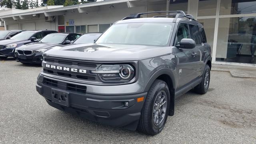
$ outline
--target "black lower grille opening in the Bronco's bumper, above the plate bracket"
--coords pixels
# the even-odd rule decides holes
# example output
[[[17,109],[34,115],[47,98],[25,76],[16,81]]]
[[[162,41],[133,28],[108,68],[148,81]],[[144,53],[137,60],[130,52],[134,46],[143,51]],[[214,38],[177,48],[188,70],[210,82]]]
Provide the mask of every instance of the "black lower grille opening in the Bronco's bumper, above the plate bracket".
[[[82,94],[86,94],[86,89],[87,89],[86,86],[58,82],[56,80],[51,80],[48,78],[44,78],[43,83],[50,87],[60,88],[62,90],[68,90],[71,92],[78,92],[78,93],[82,93]]]

